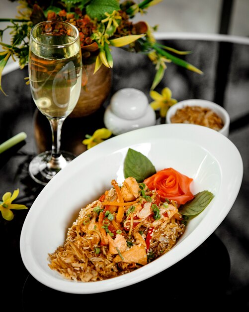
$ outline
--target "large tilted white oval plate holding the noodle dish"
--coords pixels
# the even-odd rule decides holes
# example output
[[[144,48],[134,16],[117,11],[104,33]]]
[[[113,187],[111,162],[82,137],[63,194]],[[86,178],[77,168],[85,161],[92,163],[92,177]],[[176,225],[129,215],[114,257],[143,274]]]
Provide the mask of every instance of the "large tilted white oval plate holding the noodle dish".
[[[48,266],[48,253],[64,243],[80,209],[124,180],[128,148],[147,156],[157,170],[173,167],[192,177],[191,191],[215,197],[188,222],[183,236],[165,255],[144,267],[112,279],[74,282]],[[40,283],[66,293],[91,294],[138,283],[169,268],[202,244],[224,220],[241,187],[243,162],[235,145],[202,126],[171,124],[134,130],[84,152],[61,170],[41,191],[24,221],[20,237],[23,263]]]

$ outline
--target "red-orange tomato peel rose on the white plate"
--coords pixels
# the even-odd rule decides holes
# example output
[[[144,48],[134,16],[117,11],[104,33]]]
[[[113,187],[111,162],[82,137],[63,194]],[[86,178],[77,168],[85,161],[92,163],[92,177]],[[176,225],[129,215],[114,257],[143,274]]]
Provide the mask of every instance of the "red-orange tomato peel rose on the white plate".
[[[175,169],[166,168],[146,178],[144,183],[149,189],[155,189],[162,198],[173,199],[183,205],[194,198],[189,188],[192,181],[192,178]]]

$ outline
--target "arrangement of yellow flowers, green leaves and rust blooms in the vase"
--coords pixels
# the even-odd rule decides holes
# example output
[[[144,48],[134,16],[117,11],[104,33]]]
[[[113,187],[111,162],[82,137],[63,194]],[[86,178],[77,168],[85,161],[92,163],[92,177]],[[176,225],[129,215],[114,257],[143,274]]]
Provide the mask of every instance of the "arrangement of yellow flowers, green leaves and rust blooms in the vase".
[[[12,0],[15,1],[15,0]],[[19,60],[20,68],[28,63],[29,34],[31,28],[44,20],[64,20],[74,24],[80,33],[83,64],[95,62],[94,73],[100,66],[112,68],[113,58],[111,47],[122,47],[131,52],[144,53],[155,64],[155,77],[151,89],[162,80],[166,63],[173,62],[197,73],[202,73],[193,65],[176,57],[174,54],[184,55],[189,51],[177,51],[171,47],[159,44],[148,23],[132,22],[137,13],[146,13],[147,9],[162,0],[142,0],[135,3],[131,0],[18,0],[19,16],[15,19],[1,18],[10,24],[0,30],[2,34],[10,30],[11,43],[0,42],[0,90],[1,74],[10,57]],[[4,92],[3,92],[4,93]]]

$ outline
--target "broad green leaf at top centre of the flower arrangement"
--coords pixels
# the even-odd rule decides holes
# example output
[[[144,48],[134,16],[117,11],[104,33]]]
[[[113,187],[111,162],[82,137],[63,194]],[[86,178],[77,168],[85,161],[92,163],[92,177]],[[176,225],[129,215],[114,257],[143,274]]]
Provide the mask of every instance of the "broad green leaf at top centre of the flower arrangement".
[[[86,13],[90,18],[97,18],[97,20],[104,19],[107,13],[112,13],[114,10],[119,10],[120,5],[117,0],[92,0],[86,5]]]

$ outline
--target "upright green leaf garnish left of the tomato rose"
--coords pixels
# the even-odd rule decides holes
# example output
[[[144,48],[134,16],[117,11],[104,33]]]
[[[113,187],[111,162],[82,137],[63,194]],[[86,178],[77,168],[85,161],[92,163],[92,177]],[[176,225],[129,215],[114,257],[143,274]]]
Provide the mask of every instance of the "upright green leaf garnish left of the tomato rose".
[[[129,149],[124,160],[125,178],[132,176],[138,183],[155,174],[156,168],[146,156],[135,150]]]

